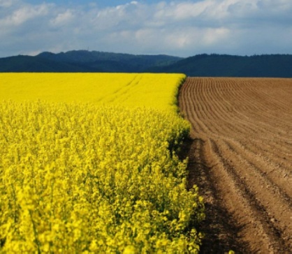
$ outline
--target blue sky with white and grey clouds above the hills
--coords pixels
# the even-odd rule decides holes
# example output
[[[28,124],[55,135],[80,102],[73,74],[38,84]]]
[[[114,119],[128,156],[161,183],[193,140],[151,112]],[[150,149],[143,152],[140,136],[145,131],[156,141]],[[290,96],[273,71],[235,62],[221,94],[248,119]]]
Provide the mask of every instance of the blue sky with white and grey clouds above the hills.
[[[0,0],[0,57],[292,54],[292,0]]]

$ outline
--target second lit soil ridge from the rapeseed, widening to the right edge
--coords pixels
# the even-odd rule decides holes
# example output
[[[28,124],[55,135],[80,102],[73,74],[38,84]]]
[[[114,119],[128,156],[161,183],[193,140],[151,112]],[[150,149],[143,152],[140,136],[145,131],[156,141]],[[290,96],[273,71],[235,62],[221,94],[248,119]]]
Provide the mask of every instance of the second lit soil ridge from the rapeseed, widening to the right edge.
[[[281,239],[292,235],[292,225],[289,223],[292,206],[289,196],[285,195],[279,186],[273,184],[260,169],[243,160],[240,154],[233,153],[226,143],[220,141],[217,144],[222,149],[220,154],[224,163],[232,168],[233,174],[236,174],[241,184],[244,184],[250,197],[254,197],[253,202],[265,211],[269,221],[273,221],[277,232],[281,232]],[[290,244],[292,243],[287,242],[287,246]]]

